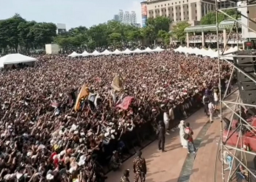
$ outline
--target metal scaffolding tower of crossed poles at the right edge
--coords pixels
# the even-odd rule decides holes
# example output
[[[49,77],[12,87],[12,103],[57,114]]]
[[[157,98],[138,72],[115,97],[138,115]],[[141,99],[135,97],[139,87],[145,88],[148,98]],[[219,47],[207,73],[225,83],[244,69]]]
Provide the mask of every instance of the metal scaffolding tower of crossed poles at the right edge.
[[[252,7],[252,6],[256,6],[256,2],[255,1],[238,1],[238,0],[232,0],[231,2],[236,3],[236,7],[230,7],[230,8],[223,8],[221,9],[218,8],[218,2],[219,0],[215,0],[215,12],[216,12],[216,28],[217,28],[217,50],[218,50],[218,69],[219,69],[219,91],[221,91],[221,60],[220,58],[223,59],[224,62],[227,62],[230,64],[230,66],[232,67],[232,72],[230,75],[230,80],[233,76],[233,74],[236,71],[241,72],[242,74],[244,74],[245,76],[247,76],[249,79],[251,79],[252,82],[256,83],[255,78],[252,78],[251,76],[249,76],[248,74],[246,74],[243,70],[241,70],[240,68],[238,68],[237,66],[234,65],[234,63],[229,62],[228,60],[225,59],[225,55],[223,54],[226,46],[223,48],[223,50],[220,52],[220,48],[219,48],[219,23],[218,23],[218,15],[220,13],[226,15],[227,17],[229,17],[230,19],[234,20],[234,24],[233,27],[230,28],[230,32],[229,35],[227,37],[226,40],[226,44],[227,45],[231,32],[235,31],[236,36],[237,36],[237,48],[239,51],[239,46],[238,46],[238,24],[241,24],[242,26],[250,29],[252,32],[255,32],[255,30],[253,30],[252,28],[250,28],[245,22],[242,22],[240,20],[238,20],[238,8],[247,8],[247,7]],[[238,6],[238,3],[244,2],[246,3],[246,5],[242,5],[242,6]],[[232,17],[230,15],[228,15],[225,10],[227,9],[236,9],[236,17]],[[253,23],[255,23],[255,21],[249,19],[248,16],[245,15],[241,15],[243,17],[246,17],[246,19],[252,21]],[[234,57],[255,57],[255,56],[251,56],[251,55],[246,55],[246,56],[234,56]],[[236,102],[228,102],[226,101],[226,94],[227,94],[227,89],[229,88],[230,85],[230,80],[228,82],[228,85],[226,87],[226,91],[225,94],[222,95],[219,94],[219,100],[220,100],[220,118],[221,118],[221,137],[220,137],[220,141],[219,144],[221,145],[221,161],[222,161],[222,182],[232,182],[234,181],[234,179],[236,179],[236,177],[240,176],[244,176],[244,178],[242,180],[244,181],[248,181],[248,182],[252,182],[252,181],[256,181],[256,173],[252,170],[249,169],[247,166],[247,162],[246,162],[246,154],[250,154],[250,155],[256,155],[256,153],[248,151],[246,149],[244,149],[244,143],[241,139],[243,133],[242,133],[242,128],[246,127],[249,131],[256,131],[255,127],[252,127],[251,124],[249,124],[245,119],[243,119],[241,117],[241,112],[242,112],[242,107],[245,106],[250,106],[250,107],[256,107],[256,105],[251,105],[251,104],[246,104],[246,103],[242,103],[241,101],[241,97],[240,94],[238,94]],[[231,108],[231,106],[229,104],[234,104],[234,109]],[[223,137],[223,115],[222,115],[222,106],[225,106],[228,110],[230,110],[231,117],[230,117],[230,124],[229,124],[229,128],[227,131],[227,135],[226,137]],[[239,114],[237,114],[236,110],[239,109]],[[234,128],[233,131],[231,131],[231,123],[233,120],[233,116],[236,115],[238,119],[238,126],[236,128]],[[238,139],[237,139],[237,143],[236,146],[230,146],[227,145],[227,141],[231,138],[231,135],[234,135],[236,132],[238,132]],[[225,169],[225,158],[226,156],[224,156],[224,154],[228,154],[231,157],[231,165]],[[219,153],[217,154],[219,155]],[[252,180],[253,179],[253,180]]]

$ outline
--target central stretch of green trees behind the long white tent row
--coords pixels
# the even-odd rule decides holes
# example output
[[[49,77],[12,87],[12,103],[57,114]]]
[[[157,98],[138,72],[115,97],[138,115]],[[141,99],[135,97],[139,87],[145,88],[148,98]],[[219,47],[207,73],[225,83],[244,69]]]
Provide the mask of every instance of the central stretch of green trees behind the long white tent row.
[[[118,48],[128,44],[139,45],[142,42],[152,44],[158,38],[162,40],[163,44],[169,44],[170,23],[170,19],[166,17],[157,17],[148,20],[146,27],[139,28],[110,20],[90,28],[71,28],[58,35],[55,41],[63,48],[84,47],[87,50],[94,50],[96,47]]]

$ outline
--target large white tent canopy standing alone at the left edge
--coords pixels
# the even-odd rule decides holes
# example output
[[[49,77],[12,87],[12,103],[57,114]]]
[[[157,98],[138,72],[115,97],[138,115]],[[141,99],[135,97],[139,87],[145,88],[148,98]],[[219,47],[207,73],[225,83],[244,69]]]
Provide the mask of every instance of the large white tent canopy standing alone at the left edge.
[[[35,62],[37,59],[22,54],[8,54],[0,58],[0,68],[7,64]]]

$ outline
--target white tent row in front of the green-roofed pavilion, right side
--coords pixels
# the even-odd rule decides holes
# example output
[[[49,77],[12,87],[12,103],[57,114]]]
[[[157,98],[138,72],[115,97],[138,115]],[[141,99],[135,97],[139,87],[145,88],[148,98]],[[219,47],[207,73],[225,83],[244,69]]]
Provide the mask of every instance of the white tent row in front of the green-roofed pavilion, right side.
[[[228,50],[224,51],[223,55],[220,56],[221,59],[229,59],[233,60],[233,52],[238,51],[237,46],[236,47],[230,47]],[[199,48],[191,48],[191,47],[178,47],[177,49],[174,49],[174,52],[180,52],[184,54],[195,54],[195,55],[202,55],[202,56],[208,56],[210,58],[218,58],[218,52],[212,49],[199,49]],[[219,55],[222,54],[222,51],[219,51]]]

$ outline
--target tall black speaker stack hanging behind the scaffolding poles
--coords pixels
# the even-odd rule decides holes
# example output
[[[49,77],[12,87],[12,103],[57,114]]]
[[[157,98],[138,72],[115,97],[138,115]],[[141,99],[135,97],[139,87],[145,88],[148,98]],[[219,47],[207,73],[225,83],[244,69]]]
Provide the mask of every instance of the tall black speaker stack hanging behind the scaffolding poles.
[[[250,57],[250,55],[256,56],[256,50],[238,51],[236,55],[239,57],[234,57],[234,65],[256,80],[256,58]],[[242,102],[256,105],[256,83],[238,69],[236,74]]]

